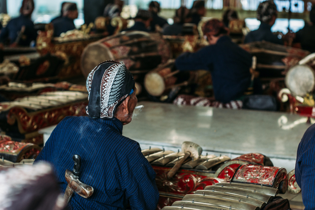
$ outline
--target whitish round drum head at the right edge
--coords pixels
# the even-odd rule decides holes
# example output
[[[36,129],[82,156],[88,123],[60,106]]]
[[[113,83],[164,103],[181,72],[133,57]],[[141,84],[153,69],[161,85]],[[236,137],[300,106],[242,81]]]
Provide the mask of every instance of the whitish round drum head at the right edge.
[[[296,65],[287,72],[285,85],[293,95],[305,96],[315,88],[314,70],[307,65]]]

